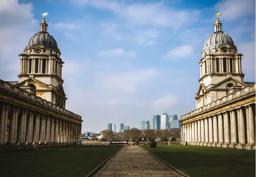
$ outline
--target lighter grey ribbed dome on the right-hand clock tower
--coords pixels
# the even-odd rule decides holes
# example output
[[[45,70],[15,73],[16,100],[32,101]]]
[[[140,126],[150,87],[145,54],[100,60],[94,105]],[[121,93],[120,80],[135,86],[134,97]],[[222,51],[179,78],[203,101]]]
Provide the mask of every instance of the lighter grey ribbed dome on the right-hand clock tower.
[[[204,48],[211,46],[219,46],[220,44],[228,44],[230,46],[235,46],[233,39],[228,35],[228,33],[223,33],[222,31],[214,32],[209,35],[205,41]]]

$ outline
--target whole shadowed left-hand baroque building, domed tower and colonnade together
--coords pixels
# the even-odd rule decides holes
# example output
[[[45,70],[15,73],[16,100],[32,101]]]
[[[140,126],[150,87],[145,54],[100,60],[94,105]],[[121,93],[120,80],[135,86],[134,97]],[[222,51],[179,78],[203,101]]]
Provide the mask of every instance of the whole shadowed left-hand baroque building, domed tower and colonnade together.
[[[20,54],[18,81],[0,80],[0,150],[78,144],[82,117],[65,109],[61,52],[47,32],[40,31]]]

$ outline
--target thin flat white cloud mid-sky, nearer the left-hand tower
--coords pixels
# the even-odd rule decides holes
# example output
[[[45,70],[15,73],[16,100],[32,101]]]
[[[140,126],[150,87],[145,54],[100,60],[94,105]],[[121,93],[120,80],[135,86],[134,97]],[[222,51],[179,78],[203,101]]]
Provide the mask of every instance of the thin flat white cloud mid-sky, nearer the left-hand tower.
[[[135,51],[125,51],[124,49],[111,49],[111,50],[107,50],[107,51],[100,51],[98,53],[98,56],[121,56],[121,55],[126,55],[126,56],[130,56],[133,57],[136,55]]]

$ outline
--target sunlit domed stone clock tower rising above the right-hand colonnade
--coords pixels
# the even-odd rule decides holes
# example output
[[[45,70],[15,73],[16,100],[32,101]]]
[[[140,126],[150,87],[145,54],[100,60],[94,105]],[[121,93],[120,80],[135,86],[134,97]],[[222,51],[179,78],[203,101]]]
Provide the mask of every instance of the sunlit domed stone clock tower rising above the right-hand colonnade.
[[[196,108],[205,106],[228,94],[232,87],[237,89],[246,87],[242,73],[242,54],[228,33],[222,31],[219,15],[214,24],[214,33],[205,41],[200,59],[199,89],[196,94]]]

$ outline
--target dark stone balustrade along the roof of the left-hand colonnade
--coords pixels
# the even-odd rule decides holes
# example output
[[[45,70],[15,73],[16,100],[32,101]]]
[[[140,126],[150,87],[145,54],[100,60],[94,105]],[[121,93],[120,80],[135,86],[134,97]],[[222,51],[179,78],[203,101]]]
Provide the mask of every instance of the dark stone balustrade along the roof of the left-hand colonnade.
[[[82,120],[82,116],[77,115],[74,112],[68,111],[66,109],[60,108],[59,106],[56,106],[55,104],[52,104],[51,102],[44,100],[41,97],[34,96],[34,94],[29,93],[26,90],[22,90],[17,86],[13,86],[9,82],[5,82],[1,79],[0,79],[0,89],[8,90],[16,95],[23,97],[26,100],[29,100],[35,104],[41,105],[47,109],[51,109],[51,110],[59,112],[61,114],[68,115],[74,119]]]

